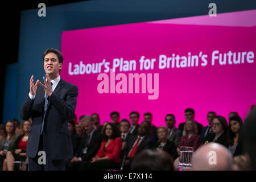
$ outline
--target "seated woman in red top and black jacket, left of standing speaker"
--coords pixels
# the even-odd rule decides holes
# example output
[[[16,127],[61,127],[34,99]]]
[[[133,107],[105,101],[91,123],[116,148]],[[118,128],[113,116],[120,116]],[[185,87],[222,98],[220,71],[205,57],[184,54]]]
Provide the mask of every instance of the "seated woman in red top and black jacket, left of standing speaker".
[[[28,139],[28,131],[30,130],[30,122],[23,121],[20,125],[20,135],[16,140],[13,147],[13,150],[7,151],[6,159],[3,162],[3,171],[13,171],[14,169],[14,161],[26,161],[26,150],[27,150],[27,139]]]

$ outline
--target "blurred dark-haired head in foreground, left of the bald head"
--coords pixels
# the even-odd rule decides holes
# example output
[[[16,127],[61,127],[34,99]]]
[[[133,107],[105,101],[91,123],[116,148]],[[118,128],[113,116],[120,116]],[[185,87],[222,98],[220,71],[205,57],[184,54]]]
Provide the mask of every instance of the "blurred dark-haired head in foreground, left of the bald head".
[[[166,151],[146,149],[131,164],[131,171],[174,171],[174,160]]]

